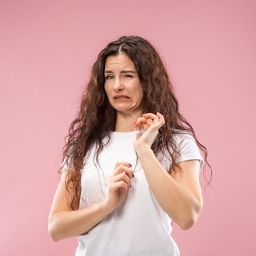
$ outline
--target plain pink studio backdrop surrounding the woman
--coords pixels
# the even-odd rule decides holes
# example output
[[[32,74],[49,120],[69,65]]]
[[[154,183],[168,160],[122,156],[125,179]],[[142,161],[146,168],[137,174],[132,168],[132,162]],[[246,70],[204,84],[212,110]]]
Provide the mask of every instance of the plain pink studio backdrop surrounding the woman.
[[[75,238],[47,234],[63,140],[96,55],[122,34],[156,46],[209,150],[202,216],[174,226],[182,255],[256,254],[255,11],[253,0],[2,0],[0,254],[74,254]]]

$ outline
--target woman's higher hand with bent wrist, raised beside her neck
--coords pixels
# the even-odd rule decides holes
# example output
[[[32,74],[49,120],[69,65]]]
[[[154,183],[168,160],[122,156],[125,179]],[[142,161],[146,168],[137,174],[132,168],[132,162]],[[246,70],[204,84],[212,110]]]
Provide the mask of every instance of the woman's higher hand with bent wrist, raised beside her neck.
[[[162,114],[146,113],[134,122],[134,127],[139,127],[145,132],[137,134],[137,140],[134,142],[134,150],[138,150],[141,146],[151,148],[155,138],[158,136],[158,130],[165,124],[165,118]]]

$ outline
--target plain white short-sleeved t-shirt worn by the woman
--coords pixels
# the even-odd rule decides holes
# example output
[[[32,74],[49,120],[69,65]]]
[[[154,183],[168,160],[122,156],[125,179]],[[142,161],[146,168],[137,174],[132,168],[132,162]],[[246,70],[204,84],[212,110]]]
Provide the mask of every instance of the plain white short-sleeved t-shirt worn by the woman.
[[[170,236],[171,219],[154,198],[135,154],[137,133],[112,132],[110,142],[98,156],[98,163],[96,146],[86,156],[81,177],[80,209],[105,198],[108,178],[116,162],[132,164],[134,178],[126,201],[93,229],[78,237],[76,256],[179,255],[178,246]],[[203,166],[198,146],[190,134],[176,134],[174,138],[181,150],[178,162],[198,159]],[[161,164],[168,170],[170,160],[163,158]]]

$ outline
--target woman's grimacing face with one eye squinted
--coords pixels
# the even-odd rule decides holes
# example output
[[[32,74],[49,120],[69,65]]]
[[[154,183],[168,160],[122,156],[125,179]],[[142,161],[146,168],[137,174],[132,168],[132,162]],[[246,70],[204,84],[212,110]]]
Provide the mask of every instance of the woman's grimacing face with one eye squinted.
[[[104,88],[110,105],[117,112],[142,112],[142,86],[134,62],[126,54],[106,58]]]

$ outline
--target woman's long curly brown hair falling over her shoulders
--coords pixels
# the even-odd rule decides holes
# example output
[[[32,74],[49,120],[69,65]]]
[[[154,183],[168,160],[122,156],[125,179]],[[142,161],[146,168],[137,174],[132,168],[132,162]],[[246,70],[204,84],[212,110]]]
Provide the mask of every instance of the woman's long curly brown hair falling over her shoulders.
[[[193,127],[180,114],[178,100],[174,96],[174,88],[157,51],[144,38],[123,36],[114,42],[110,42],[98,54],[91,70],[90,82],[87,84],[84,94],[82,94],[77,118],[70,124],[69,134],[66,136],[63,160],[66,161],[68,169],[72,170],[66,174],[66,192],[67,195],[70,195],[70,190],[72,190],[72,197],[69,201],[73,210],[78,209],[79,206],[81,170],[87,152],[96,143],[98,155],[104,146],[102,139],[106,136],[109,137],[110,131],[114,131],[116,111],[110,106],[104,90],[104,70],[106,58],[118,55],[120,52],[127,54],[134,62],[138,72],[143,90],[143,113],[160,112],[165,118],[165,126],[162,126],[159,130],[158,138],[152,146],[154,154],[160,152],[164,154],[167,150],[172,158],[172,166],[170,166],[169,172],[174,170],[174,167],[177,166],[178,151],[173,135],[179,130],[179,132],[188,132],[194,136],[208,164],[206,147],[198,142]],[[210,180],[208,183],[210,183]]]

